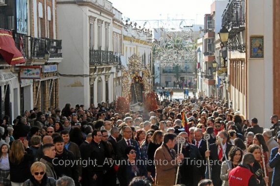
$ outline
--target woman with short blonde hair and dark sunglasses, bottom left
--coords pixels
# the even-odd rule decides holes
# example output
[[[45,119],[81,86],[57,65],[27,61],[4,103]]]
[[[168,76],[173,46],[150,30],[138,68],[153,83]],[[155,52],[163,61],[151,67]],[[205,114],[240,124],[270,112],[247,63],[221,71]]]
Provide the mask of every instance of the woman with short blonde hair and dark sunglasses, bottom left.
[[[33,163],[30,168],[32,176],[23,186],[56,186],[56,180],[47,177],[46,169],[46,165],[42,162]]]

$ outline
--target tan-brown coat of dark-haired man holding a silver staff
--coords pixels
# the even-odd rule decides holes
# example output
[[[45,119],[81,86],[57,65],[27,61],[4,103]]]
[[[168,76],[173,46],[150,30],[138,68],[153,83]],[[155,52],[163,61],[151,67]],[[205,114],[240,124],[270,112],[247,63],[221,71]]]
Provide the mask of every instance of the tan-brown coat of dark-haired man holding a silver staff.
[[[176,157],[175,151],[172,154]],[[178,163],[172,159],[167,147],[163,144],[155,152],[156,186],[175,185]]]

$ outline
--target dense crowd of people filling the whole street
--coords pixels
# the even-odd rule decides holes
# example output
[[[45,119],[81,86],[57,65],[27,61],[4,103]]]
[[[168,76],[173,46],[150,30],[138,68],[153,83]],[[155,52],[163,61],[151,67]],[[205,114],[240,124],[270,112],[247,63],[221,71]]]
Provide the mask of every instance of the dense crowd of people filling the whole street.
[[[34,108],[0,121],[0,185],[278,186],[280,121],[270,119],[263,129],[214,97],[164,99],[152,112]]]

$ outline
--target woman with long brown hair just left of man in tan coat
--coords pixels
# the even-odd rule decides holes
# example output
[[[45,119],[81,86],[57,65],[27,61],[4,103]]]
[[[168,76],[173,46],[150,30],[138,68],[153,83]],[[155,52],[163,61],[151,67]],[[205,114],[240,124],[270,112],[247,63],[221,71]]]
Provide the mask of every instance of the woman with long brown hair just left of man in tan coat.
[[[154,156],[157,148],[162,145],[164,133],[162,131],[155,131],[153,136],[151,137],[151,142],[148,145],[147,156],[148,161],[154,162]],[[148,163],[147,165],[148,177],[152,176],[156,177],[156,167],[152,163]]]

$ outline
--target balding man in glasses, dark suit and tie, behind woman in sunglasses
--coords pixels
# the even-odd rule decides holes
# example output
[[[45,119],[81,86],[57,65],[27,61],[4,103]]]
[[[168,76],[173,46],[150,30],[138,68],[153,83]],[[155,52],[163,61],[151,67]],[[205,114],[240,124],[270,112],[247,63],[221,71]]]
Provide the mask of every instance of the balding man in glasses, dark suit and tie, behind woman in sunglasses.
[[[125,154],[125,148],[127,146],[135,146],[136,148],[136,159],[140,159],[140,148],[136,140],[132,140],[132,130],[129,126],[123,127],[123,139],[117,142],[117,159],[127,160],[127,155]]]

